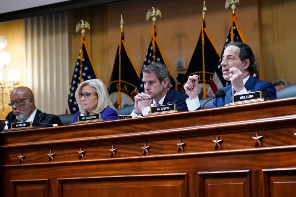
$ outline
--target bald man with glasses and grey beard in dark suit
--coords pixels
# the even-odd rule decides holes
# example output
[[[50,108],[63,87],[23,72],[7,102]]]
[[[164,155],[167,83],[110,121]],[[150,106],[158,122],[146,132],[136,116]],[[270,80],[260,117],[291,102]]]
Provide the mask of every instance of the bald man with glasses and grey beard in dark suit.
[[[34,94],[32,90],[28,87],[17,87],[10,93],[9,106],[13,110],[15,116],[10,120],[10,123],[18,122],[29,122],[32,121],[33,127],[47,127],[49,124],[62,125],[61,120],[58,116],[53,114],[46,114],[43,116],[39,115],[42,113],[35,107]],[[40,123],[39,120],[41,119]],[[47,123],[47,124],[42,124]],[[2,124],[1,130],[4,128],[5,124]],[[10,124],[8,125],[10,128]]]

